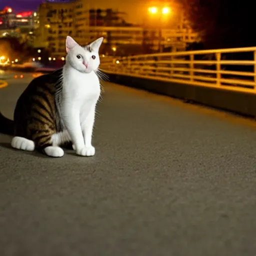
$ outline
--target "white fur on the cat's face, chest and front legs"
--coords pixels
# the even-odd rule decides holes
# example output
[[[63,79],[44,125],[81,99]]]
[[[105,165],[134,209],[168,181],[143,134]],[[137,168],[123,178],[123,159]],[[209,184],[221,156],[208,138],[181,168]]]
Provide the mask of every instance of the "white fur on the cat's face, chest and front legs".
[[[91,156],[95,154],[95,148],[91,145],[91,137],[95,107],[100,95],[99,79],[94,70],[99,65],[98,48],[102,38],[90,44],[92,52],[86,51],[70,38],[68,36],[66,40],[67,56],[62,74],[61,118],[76,153]],[[77,58],[77,55],[81,58]],[[92,59],[93,55],[95,59]]]

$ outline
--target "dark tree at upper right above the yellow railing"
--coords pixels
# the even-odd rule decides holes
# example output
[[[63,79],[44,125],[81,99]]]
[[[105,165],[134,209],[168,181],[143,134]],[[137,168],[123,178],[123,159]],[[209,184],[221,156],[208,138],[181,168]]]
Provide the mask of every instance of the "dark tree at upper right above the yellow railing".
[[[207,48],[256,45],[253,1],[181,0]]]

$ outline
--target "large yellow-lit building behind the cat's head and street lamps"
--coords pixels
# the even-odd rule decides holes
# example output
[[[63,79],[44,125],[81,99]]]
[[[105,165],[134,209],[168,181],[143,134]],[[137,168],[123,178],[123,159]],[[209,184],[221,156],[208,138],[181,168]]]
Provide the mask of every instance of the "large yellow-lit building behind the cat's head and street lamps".
[[[125,22],[126,14],[118,10],[89,9],[84,0],[48,0],[39,6],[36,47],[48,47],[53,56],[63,56],[65,38],[70,35],[80,44],[103,36],[103,44],[113,51],[123,44],[148,45],[153,50],[159,45],[184,50],[186,43],[195,41],[196,33],[186,24],[182,12],[178,13],[181,14],[173,17],[171,20],[175,22],[172,23],[151,19],[144,20],[140,26],[132,26]]]

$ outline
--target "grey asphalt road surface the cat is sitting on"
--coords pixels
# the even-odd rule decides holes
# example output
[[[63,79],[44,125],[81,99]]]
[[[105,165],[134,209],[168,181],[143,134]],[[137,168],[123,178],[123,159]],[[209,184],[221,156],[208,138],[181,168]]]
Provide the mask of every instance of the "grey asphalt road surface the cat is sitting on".
[[[0,77],[12,117],[32,76]],[[14,150],[0,134],[0,255],[255,256],[255,122],[104,88],[93,157]]]

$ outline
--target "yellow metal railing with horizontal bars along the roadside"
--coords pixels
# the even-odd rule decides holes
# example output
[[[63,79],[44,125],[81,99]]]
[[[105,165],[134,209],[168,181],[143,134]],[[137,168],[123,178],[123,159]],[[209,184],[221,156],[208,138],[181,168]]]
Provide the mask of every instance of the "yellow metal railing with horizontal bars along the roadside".
[[[101,57],[106,73],[256,93],[256,47]]]

